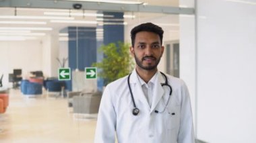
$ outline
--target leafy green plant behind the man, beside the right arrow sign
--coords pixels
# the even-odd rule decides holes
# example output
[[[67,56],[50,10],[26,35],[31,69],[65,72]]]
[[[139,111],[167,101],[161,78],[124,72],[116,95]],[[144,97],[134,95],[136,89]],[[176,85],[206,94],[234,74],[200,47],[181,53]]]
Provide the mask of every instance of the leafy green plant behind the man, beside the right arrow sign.
[[[129,53],[129,44],[117,42],[102,45],[99,52],[103,52],[104,58],[92,66],[99,69],[98,77],[104,79],[104,86],[125,77],[133,69],[134,62]]]

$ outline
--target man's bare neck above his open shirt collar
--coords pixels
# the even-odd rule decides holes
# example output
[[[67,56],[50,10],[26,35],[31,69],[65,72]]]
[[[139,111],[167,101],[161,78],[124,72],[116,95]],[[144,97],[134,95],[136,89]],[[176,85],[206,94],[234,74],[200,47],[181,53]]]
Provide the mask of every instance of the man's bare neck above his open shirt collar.
[[[141,79],[143,79],[143,81],[145,81],[145,83],[148,83],[158,70],[157,68],[155,68],[153,70],[144,70],[139,67],[136,67],[135,69],[136,69],[137,75],[139,75],[139,77]]]

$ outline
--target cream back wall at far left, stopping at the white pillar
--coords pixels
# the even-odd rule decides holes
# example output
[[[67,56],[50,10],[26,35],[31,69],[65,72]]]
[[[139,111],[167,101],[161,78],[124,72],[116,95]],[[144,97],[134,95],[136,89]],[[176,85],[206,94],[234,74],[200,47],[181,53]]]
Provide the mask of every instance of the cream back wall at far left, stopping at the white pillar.
[[[32,70],[42,70],[42,44],[40,40],[0,42],[0,75],[4,74],[3,87],[11,87],[8,74],[21,68],[26,76]]]

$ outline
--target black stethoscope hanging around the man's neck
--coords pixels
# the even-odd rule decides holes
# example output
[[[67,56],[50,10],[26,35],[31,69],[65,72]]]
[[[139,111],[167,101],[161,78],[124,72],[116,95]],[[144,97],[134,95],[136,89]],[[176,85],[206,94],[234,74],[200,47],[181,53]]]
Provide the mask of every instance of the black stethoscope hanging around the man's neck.
[[[166,75],[164,75],[164,73],[162,73],[162,72],[160,72],[163,76],[164,76],[164,78],[165,78],[165,83],[162,83],[161,85],[162,85],[162,87],[163,86],[167,86],[167,87],[169,87],[169,89],[170,89],[170,94],[169,94],[169,97],[168,97],[168,100],[167,100],[167,102],[166,102],[166,105],[164,106],[164,109],[162,109],[162,111],[158,111],[158,110],[155,110],[155,113],[162,113],[162,112],[164,112],[164,110],[166,109],[166,106],[168,105],[168,102],[169,102],[169,100],[170,100],[170,95],[172,94],[172,87],[170,87],[170,85],[168,85],[168,79],[167,79],[167,77],[166,77]],[[132,101],[133,101],[133,115],[138,115],[139,114],[139,109],[136,107],[136,105],[135,105],[135,101],[134,101],[134,98],[133,98],[133,92],[131,91],[131,85],[130,85],[130,76],[131,76],[131,73],[130,73],[130,75],[128,76],[128,79],[127,79],[127,82],[128,82],[128,87],[129,87],[129,90],[130,90],[130,93],[131,93],[131,99],[132,99]]]

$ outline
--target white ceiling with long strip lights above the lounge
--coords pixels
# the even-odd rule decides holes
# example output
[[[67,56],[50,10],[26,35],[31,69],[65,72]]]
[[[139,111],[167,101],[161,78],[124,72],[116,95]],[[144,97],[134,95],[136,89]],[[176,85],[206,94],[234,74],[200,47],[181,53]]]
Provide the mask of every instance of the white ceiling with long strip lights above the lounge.
[[[124,1],[124,0],[123,0]],[[178,7],[179,1],[174,0],[145,0],[143,1],[148,3],[148,5],[168,5]],[[67,13],[67,15],[63,15]],[[1,31],[5,29],[11,30],[12,28],[52,28],[52,30],[31,30],[32,33],[52,33],[52,32],[59,32],[61,29],[66,28],[67,26],[96,26],[97,24],[102,23],[101,16],[95,16],[97,11],[95,10],[75,10],[75,9],[36,9],[36,8],[21,8],[21,7],[0,7],[0,40],[5,39],[3,33]],[[56,15],[62,14],[62,15]],[[94,14],[92,16],[91,14]],[[145,12],[124,12],[124,15],[132,16],[132,17],[125,17],[124,22],[125,24],[133,24],[138,23],[139,21],[148,20],[165,17],[167,14],[164,13],[145,13]],[[55,17],[54,19],[24,19],[21,16],[34,16],[34,17]],[[106,15],[104,15],[106,16]],[[107,15],[111,16],[111,15]],[[168,14],[170,16],[170,14]],[[11,18],[13,17],[13,18]],[[56,21],[57,17],[66,17],[66,18],[73,18],[71,21],[82,21],[82,22],[89,22],[89,23],[64,23],[63,21]],[[168,24],[177,24],[179,23],[179,16],[178,15],[171,15],[170,21],[161,21],[161,23],[167,22]],[[16,23],[19,22],[38,22],[38,23]],[[70,20],[69,20],[70,21]],[[56,23],[54,23],[56,22]],[[118,23],[120,24],[120,23]],[[3,31],[4,33],[5,30]],[[21,35],[22,32],[20,32]],[[10,37],[12,34],[8,34],[7,36]],[[26,35],[26,34],[25,34]]]

